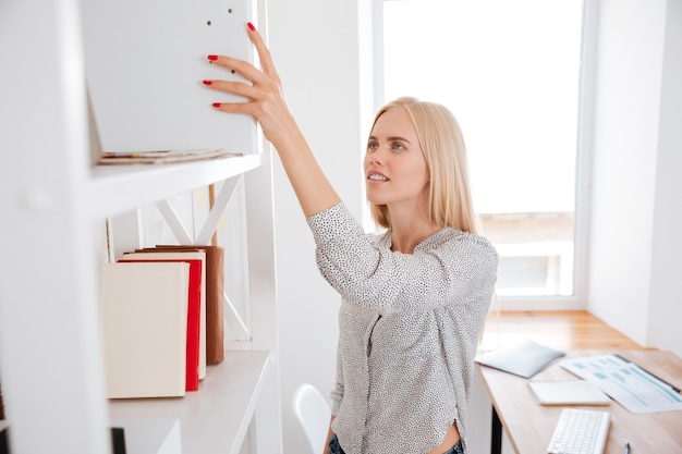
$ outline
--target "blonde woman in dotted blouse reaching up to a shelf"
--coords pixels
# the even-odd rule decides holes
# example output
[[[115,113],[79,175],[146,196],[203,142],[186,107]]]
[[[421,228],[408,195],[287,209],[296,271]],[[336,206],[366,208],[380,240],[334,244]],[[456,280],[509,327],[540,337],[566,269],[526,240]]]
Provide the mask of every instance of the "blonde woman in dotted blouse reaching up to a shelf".
[[[401,98],[376,115],[364,160],[381,234],[366,234],[320,170],[282,96],[260,35],[261,71],[209,60],[251,84],[205,81],[248,99],[316,243],[320,272],[342,296],[337,384],[326,453],[465,453],[467,400],[498,256],[476,234],[460,127],[442,106]]]

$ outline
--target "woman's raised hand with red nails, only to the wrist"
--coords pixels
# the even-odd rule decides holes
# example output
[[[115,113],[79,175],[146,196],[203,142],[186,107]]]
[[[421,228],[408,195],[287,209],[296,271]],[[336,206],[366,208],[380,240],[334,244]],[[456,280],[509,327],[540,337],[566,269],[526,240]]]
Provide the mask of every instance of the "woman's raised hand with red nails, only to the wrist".
[[[204,81],[204,85],[218,91],[247,98],[248,101],[244,102],[215,102],[214,107],[223,112],[253,115],[260,124],[265,137],[277,148],[284,145],[292,134],[297,134],[299,128],[287,106],[281,81],[272,63],[270,51],[260,34],[251,23],[248,23],[247,33],[248,38],[256,47],[263,71],[243,60],[227,56],[208,56],[208,60],[212,64],[224,66],[241,74],[251,82],[251,85],[243,82],[218,79]]]

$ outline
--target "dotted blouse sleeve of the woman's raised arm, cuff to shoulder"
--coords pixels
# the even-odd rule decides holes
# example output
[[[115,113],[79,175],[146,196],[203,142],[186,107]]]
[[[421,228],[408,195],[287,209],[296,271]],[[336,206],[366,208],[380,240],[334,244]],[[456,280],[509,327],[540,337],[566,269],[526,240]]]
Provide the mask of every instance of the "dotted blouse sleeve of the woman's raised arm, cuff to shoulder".
[[[317,266],[349,303],[379,314],[466,304],[490,292],[498,256],[482,236],[452,231],[434,248],[391,251],[365,234],[343,204],[308,218]]]

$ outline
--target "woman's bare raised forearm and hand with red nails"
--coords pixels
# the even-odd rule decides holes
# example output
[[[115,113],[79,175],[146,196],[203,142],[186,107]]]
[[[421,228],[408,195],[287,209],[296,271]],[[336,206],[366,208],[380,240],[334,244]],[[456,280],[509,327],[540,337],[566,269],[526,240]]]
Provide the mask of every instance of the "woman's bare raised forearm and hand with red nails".
[[[261,70],[229,56],[208,56],[208,60],[240,73],[251,84],[218,79],[204,81],[204,84],[218,91],[247,98],[244,102],[215,102],[214,108],[223,112],[251,114],[258,121],[265,137],[275,146],[303,213],[308,218],[337,205],[340,198],[322,173],[287,106],[280,77],[263,37],[251,23],[247,33],[258,52]]]

